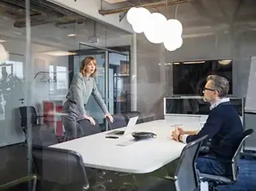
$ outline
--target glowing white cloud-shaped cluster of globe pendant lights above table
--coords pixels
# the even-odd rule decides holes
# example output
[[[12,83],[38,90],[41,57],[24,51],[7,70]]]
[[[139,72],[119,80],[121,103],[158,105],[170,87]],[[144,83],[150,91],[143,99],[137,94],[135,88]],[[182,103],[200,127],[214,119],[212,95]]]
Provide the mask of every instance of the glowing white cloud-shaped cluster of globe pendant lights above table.
[[[127,21],[136,33],[144,32],[149,42],[163,43],[167,50],[174,51],[183,45],[183,25],[177,19],[166,19],[159,12],[149,12],[143,7],[128,10]]]

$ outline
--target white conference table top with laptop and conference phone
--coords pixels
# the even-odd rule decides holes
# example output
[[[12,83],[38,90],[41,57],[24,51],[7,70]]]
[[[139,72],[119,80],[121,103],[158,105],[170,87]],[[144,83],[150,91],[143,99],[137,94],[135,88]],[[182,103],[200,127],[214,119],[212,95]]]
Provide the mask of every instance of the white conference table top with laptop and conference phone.
[[[196,130],[199,124],[186,122],[183,128]],[[181,154],[185,144],[171,138],[175,124],[166,120],[149,121],[135,124],[134,131],[152,131],[156,138],[142,141],[131,141],[131,135],[121,135],[119,138],[105,138],[110,131],[69,142],[52,145],[53,148],[63,148],[80,153],[84,165],[96,169],[106,169],[115,172],[148,173],[153,172]],[[121,130],[122,128],[120,128]],[[113,130],[114,131],[114,130]],[[128,143],[128,144],[126,144]],[[121,145],[125,144],[125,146]]]

